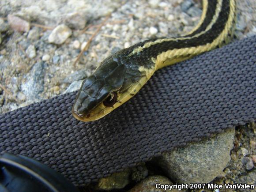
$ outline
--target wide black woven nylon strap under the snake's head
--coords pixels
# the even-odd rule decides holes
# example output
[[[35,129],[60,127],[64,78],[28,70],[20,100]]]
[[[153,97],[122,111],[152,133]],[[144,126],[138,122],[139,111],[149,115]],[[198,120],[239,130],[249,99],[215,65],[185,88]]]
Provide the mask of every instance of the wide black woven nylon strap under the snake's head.
[[[76,92],[0,116],[0,152],[23,154],[76,185],[256,120],[256,36],[156,72],[101,120],[71,114]]]

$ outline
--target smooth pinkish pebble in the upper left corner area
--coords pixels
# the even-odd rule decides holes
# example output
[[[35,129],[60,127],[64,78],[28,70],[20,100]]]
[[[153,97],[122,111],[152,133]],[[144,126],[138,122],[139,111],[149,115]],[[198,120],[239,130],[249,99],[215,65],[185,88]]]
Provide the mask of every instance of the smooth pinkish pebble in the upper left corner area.
[[[19,31],[19,32],[28,32],[30,29],[30,23],[27,21],[20,19],[19,17],[15,15],[8,15],[8,23],[11,25],[11,28],[13,30]]]

